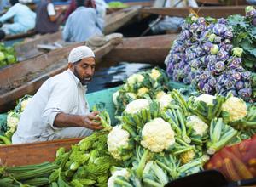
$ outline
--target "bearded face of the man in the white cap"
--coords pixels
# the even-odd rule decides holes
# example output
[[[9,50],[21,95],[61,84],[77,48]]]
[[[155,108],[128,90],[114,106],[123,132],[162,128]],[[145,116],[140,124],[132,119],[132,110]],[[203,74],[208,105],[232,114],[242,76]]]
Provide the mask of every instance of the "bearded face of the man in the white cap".
[[[78,63],[69,63],[68,67],[83,85],[87,85],[95,71],[95,59],[93,57],[84,58]]]

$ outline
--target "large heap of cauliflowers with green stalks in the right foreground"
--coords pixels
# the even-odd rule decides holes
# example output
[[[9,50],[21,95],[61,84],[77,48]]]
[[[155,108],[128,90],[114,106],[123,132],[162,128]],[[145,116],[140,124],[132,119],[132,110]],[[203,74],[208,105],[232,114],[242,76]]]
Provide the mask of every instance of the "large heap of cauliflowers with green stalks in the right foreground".
[[[256,106],[231,93],[160,95],[132,100],[108,134],[108,151],[125,164],[113,167],[108,186],[163,186],[201,171],[216,151],[256,133]]]

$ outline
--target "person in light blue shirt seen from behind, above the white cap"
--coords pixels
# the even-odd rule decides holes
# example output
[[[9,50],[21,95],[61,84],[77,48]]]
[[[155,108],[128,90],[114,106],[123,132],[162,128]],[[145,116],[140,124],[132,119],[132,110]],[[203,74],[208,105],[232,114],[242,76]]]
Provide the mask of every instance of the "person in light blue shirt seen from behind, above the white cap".
[[[84,0],[77,0],[77,8],[69,15],[62,37],[66,42],[84,42],[95,35],[102,35],[103,25],[104,20],[96,9],[86,8]]]

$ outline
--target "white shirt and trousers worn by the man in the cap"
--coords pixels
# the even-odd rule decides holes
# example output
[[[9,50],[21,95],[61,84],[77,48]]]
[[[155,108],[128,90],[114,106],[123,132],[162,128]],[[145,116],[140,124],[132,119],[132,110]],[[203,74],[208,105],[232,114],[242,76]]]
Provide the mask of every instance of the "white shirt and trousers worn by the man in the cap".
[[[86,115],[89,105],[86,89],[70,70],[49,78],[21,114],[13,144],[52,139],[84,137],[92,132],[85,127],[54,127],[55,116],[61,112]]]

